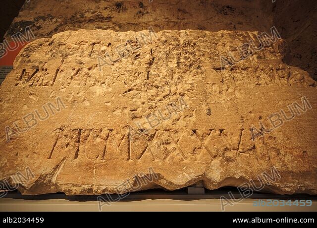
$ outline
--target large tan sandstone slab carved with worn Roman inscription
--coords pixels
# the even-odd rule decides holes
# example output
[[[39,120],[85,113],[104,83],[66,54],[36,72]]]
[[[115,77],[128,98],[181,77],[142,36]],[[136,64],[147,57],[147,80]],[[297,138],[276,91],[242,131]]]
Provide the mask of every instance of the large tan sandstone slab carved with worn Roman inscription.
[[[137,190],[216,189],[259,185],[257,176],[275,167],[281,178],[264,190],[317,193],[316,81],[283,62],[284,41],[221,70],[225,48],[238,58],[237,47],[258,46],[259,33],[162,31],[142,43],[144,35],[67,31],[22,50],[0,86],[1,180],[29,167],[35,178],[21,183],[24,194],[115,193],[127,180]],[[270,128],[271,114],[290,116],[287,106],[302,97],[311,109],[252,138],[259,120]],[[57,98],[59,111],[49,104]],[[19,133],[27,114],[30,129]],[[9,142],[6,126],[17,132]],[[149,168],[158,178],[137,187]]]

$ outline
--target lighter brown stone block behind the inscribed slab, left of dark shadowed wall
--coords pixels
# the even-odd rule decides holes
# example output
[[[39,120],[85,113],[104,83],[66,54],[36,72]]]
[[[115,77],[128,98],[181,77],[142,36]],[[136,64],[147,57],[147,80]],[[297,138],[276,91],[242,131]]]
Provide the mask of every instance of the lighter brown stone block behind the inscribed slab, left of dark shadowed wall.
[[[38,39],[67,30],[111,29],[124,32],[142,31],[149,26],[155,31],[254,28],[263,31],[270,28],[270,19],[263,20],[265,11],[260,10],[263,5],[261,0],[32,0],[24,4],[5,38],[24,32],[26,26],[32,28]]]

